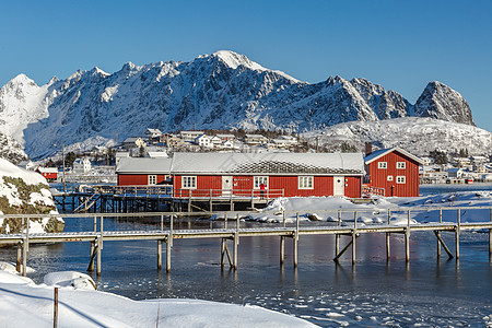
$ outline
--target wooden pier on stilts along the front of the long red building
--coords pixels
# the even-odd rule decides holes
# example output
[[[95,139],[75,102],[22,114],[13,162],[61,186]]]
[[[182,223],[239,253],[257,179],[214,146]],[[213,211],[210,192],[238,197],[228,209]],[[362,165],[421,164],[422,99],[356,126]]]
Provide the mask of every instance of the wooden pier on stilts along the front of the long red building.
[[[283,197],[283,190],[190,189],[175,192],[172,186],[82,186],[54,192],[62,211],[71,212],[212,212],[255,209]]]

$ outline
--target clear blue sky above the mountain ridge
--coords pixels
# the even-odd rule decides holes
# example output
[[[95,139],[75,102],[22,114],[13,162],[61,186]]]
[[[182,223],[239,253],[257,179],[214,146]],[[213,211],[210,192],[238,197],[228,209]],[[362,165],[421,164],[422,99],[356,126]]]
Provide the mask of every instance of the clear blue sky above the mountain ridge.
[[[429,81],[492,131],[492,1],[3,1],[0,85],[220,49],[319,82],[365,78],[414,103]]]

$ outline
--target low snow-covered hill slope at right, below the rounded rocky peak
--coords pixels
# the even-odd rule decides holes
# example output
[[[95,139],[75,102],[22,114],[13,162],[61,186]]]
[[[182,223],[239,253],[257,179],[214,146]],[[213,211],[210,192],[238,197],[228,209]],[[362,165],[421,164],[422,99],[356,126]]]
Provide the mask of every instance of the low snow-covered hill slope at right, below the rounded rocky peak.
[[[351,121],[303,134],[314,145],[339,148],[347,142],[363,150],[365,142],[380,148],[398,145],[412,154],[429,156],[433,150],[468,149],[470,155],[492,154],[492,132],[475,126],[434,118],[403,117],[379,121]]]

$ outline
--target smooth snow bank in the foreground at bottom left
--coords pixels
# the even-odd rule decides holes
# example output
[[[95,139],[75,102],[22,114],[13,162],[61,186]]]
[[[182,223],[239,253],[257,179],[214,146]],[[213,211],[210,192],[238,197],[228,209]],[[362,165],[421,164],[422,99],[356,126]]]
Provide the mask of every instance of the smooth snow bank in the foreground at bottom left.
[[[54,272],[52,285],[86,274]],[[92,280],[92,279],[91,279]],[[0,270],[0,321],[5,327],[49,327],[54,286]],[[59,288],[58,327],[316,327],[303,319],[265,309],[201,300],[130,298],[85,289]]]

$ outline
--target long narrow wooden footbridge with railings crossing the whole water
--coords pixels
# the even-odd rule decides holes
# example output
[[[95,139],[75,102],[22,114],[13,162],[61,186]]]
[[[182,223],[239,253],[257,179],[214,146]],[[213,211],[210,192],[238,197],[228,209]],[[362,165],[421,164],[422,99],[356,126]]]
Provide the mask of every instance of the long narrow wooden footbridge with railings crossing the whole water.
[[[324,222],[321,225],[307,223],[304,224],[300,220],[300,215],[309,211],[280,213],[281,222],[278,226],[271,227],[242,227],[241,218],[251,214],[253,212],[160,212],[160,213],[95,213],[95,214],[61,214],[63,220],[73,220],[74,218],[82,218],[91,220],[91,231],[81,232],[66,232],[66,233],[31,233],[30,219],[46,218],[46,215],[3,215],[3,218],[15,218],[22,221],[23,233],[17,234],[0,234],[0,245],[16,245],[16,265],[17,270],[22,268],[22,274],[26,274],[26,265],[30,244],[38,243],[69,243],[69,242],[89,242],[91,244],[90,253],[87,254],[89,267],[87,271],[94,270],[94,261],[96,260],[96,274],[102,271],[102,251],[104,243],[113,241],[156,241],[157,253],[157,269],[162,268],[163,250],[162,246],[166,244],[166,271],[171,271],[171,256],[173,243],[176,239],[185,238],[219,238],[221,239],[221,265],[225,266],[225,258],[233,269],[238,268],[237,248],[239,239],[244,237],[262,237],[262,236],[278,236],[280,238],[280,263],[283,265],[285,259],[285,238],[293,241],[293,266],[298,265],[298,241],[300,237],[307,237],[308,235],[333,235],[335,236],[335,255],[333,260],[338,261],[348,249],[352,250],[352,263],[355,263],[356,255],[356,238],[362,234],[383,233],[386,234],[386,256],[390,258],[390,234],[405,235],[405,254],[406,261],[410,260],[410,236],[413,232],[430,232],[436,237],[437,248],[436,255],[441,257],[441,250],[444,248],[449,258],[455,257],[459,259],[459,239],[462,232],[482,231],[489,234],[489,260],[492,260],[492,207],[460,207],[460,208],[401,208],[388,210],[387,222],[382,224],[361,224],[358,222],[361,213],[373,212],[374,209],[366,211],[361,210],[331,210],[331,211],[315,211],[316,213],[329,212],[335,213],[338,220],[335,222]],[[412,223],[412,215],[425,211],[425,213],[435,212],[438,214],[437,222],[429,223]],[[483,220],[480,222],[461,222],[461,213],[465,211],[477,211]],[[257,212],[255,212],[257,213]],[[268,212],[265,212],[267,214]],[[395,213],[399,218],[406,215],[406,224],[394,224],[391,219]],[[453,214],[454,213],[454,214]],[[213,215],[221,214],[224,220],[222,226],[219,229],[175,229],[175,220],[177,216],[196,216],[196,215]],[[279,213],[268,213],[279,215]],[[294,223],[286,223],[285,218],[294,215]],[[379,213],[380,215],[380,213]],[[142,219],[154,218],[154,224],[145,225],[148,230],[134,231],[107,231],[104,229],[106,220],[131,218],[139,221]],[[455,234],[454,253],[445,244],[442,238],[442,233],[450,232]],[[347,236],[347,244],[340,249],[341,237]],[[232,250],[227,246],[227,242],[232,242]],[[22,263],[22,266],[21,266]]]

